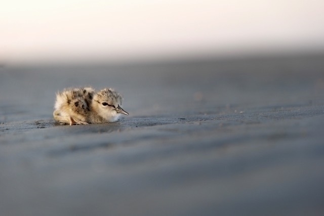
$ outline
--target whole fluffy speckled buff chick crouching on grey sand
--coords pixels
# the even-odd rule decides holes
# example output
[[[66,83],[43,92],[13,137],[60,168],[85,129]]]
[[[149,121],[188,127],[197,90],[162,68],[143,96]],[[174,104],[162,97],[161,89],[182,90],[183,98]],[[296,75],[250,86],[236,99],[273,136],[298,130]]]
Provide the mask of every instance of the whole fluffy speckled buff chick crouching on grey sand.
[[[114,122],[120,114],[128,115],[121,108],[123,98],[113,89],[95,93],[91,87],[64,89],[56,94],[54,119],[61,123],[88,124]]]

